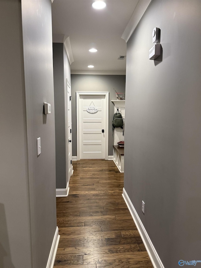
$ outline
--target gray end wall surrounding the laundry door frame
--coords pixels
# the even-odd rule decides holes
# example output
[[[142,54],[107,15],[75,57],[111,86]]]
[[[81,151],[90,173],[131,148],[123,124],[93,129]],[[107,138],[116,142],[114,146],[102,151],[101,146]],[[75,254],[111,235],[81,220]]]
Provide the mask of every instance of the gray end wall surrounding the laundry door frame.
[[[116,100],[115,91],[125,93],[125,75],[95,75],[71,74],[72,95],[72,150],[77,156],[77,131],[76,131],[76,91],[104,91],[109,92],[109,155],[113,155],[112,120],[114,105],[111,100]]]

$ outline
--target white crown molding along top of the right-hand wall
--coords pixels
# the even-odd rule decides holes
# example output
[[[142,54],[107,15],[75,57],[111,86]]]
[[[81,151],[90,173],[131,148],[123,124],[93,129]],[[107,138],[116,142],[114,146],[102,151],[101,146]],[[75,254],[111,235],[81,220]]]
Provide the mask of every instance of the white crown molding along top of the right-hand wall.
[[[133,12],[133,15],[128,22],[128,25],[126,26],[126,29],[122,34],[122,39],[124,39],[126,42],[128,42],[129,38],[132,36],[134,30],[138,26],[151,1],[152,0],[139,0]]]

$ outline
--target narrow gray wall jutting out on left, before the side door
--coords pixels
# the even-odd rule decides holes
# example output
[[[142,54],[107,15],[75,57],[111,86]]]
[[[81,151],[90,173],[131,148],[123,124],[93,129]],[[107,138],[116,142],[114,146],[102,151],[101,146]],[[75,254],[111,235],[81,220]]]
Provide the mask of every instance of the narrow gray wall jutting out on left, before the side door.
[[[65,189],[68,183],[66,170],[66,78],[70,82],[70,63],[63,43],[53,43],[54,104],[56,136],[56,188]]]

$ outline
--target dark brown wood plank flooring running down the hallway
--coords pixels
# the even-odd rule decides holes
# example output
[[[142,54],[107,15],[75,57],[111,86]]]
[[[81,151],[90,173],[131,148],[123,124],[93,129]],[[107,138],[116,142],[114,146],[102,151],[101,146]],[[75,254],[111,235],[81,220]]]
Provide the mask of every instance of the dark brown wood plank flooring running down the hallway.
[[[153,268],[122,197],[113,161],[73,161],[67,197],[57,197],[54,268]]]

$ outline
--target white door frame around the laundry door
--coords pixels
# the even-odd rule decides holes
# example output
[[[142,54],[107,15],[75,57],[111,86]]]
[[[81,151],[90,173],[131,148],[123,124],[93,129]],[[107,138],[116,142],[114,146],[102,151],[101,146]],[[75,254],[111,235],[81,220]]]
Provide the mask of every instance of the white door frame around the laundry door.
[[[81,95],[98,95],[105,96],[105,110],[106,110],[106,120],[105,120],[105,160],[108,160],[108,124],[109,124],[109,92],[76,92],[76,111],[77,111],[77,160],[80,160],[80,148],[79,148],[79,99]]]

